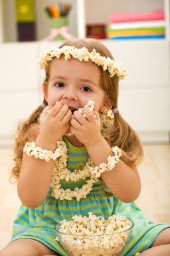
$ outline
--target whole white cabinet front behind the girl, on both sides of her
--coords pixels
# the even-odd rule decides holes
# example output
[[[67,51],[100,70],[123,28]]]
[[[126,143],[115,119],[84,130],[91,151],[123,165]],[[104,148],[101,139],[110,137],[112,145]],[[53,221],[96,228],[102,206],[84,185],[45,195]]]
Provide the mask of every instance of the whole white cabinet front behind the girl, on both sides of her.
[[[169,141],[169,43],[112,42],[103,40],[130,72],[120,83],[122,116],[143,141]],[[36,59],[48,44],[0,44],[0,144],[6,143],[20,119],[42,100],[43,81]]]

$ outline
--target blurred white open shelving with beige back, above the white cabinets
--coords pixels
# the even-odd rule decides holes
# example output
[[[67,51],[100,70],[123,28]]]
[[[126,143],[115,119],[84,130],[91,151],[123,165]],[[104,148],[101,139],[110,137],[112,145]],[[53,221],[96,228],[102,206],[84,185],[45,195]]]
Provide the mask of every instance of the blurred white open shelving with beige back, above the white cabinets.
[[[44,5],[54,0],[35,0],[37,40],[49,34],[49,24]],[[61,0],[65,3],[67,0]],[[114,11],[165,11],[166,36],[169,40],[169,0],[69,0],[73,7],[69,15],[69,32],[78,38],[85,38],[86,24],[108,24],[108,15]],[[0,0],[0,42],[15,42],[17,28],[15,22],[15,1]],[[162,39],[164,40],[164,39]]]

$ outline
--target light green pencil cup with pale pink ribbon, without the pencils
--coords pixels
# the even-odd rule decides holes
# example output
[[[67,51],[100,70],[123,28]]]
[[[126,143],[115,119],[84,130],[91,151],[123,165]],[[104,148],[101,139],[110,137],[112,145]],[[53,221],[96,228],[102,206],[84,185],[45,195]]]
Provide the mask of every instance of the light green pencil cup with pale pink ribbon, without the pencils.
[[[52,40],[65,40],[67,39],[68,18],[62,16],[59,18],[48,18],[50,24],[50,34],[53,34]]]

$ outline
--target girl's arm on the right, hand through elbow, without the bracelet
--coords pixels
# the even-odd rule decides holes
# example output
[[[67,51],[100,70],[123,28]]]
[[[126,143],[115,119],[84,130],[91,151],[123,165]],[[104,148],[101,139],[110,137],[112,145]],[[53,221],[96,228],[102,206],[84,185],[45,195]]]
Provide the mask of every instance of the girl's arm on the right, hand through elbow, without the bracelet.
[[[112,148],[101,135],[101,121],[99,113],[93,113],[85,108],[83,110],[86,118],[78,111],[74,112],[76,119],[71,119],[71,132],[87,148],[87,152],[95,166],[105,162],[108,163],[108,156],[113,156]],[[96,118],[95,118],[96,117]],[[101,174],[105,185],[121,201],[134,201],[140,193],[140,177],[136,168],[130,168],[122,160],[110,170]]]

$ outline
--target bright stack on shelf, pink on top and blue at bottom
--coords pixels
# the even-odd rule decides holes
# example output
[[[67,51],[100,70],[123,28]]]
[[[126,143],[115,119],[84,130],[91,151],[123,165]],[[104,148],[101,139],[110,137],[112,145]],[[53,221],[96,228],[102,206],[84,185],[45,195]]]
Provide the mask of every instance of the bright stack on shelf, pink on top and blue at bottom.
[[[110,39],[165,38],[163,11],[111,13],[108,17],[108,22],[107,35]]]

